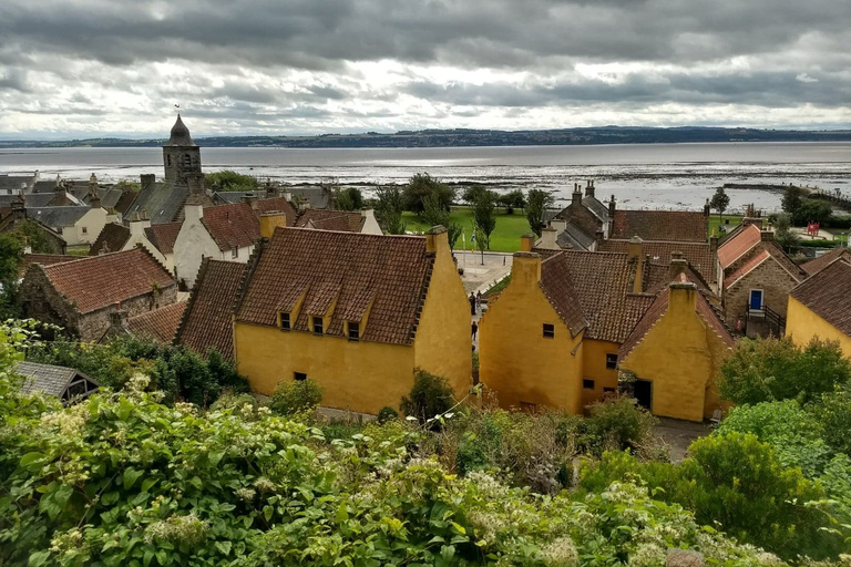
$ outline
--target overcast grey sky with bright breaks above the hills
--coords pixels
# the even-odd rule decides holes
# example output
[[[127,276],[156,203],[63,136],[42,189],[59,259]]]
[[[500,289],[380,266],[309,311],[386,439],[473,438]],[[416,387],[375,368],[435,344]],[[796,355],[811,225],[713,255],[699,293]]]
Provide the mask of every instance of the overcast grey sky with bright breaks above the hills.
[[[851,127],[850,0],[2,0],[0,137]]]

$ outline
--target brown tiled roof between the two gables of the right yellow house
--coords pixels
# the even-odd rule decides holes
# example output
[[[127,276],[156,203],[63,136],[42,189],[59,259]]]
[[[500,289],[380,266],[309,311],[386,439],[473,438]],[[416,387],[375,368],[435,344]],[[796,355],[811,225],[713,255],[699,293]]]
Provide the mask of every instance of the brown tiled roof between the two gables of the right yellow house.
[[[573,287],[587,321],[585,337],[623,342],[654,300],[633,293],[635,262],[625,254],[564,250]]]

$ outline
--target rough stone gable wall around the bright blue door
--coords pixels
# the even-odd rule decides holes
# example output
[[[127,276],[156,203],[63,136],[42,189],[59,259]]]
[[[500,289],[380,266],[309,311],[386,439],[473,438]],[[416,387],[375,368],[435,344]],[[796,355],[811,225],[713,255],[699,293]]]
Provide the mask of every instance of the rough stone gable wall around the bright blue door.
[[[797,285],[782,266],[773,258],[768,258],[724,291],[724,315],[727,324],[735,329],[736,320],[745,319],[751,289],[761,289],[762,305],[786,317],[789,292]]]

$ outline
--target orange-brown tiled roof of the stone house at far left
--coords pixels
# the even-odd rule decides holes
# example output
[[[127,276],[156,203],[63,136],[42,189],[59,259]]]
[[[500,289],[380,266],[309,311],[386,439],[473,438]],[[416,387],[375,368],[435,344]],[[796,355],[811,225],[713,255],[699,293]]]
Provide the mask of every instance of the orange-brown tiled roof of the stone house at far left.
[[[57,291],[76,303],[81,313],[148,293],[154,285],[161,290],[176,285],[144,248],[89,256],[41,269]]]

